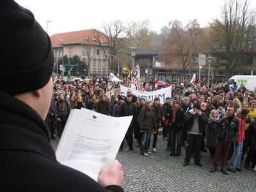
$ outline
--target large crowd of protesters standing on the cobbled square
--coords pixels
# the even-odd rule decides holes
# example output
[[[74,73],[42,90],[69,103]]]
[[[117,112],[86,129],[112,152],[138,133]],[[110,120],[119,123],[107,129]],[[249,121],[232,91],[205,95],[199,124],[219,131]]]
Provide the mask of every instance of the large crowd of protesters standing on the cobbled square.
[[[159,127],[163,127],[163,140],[170,156],[180,156],[186,150],[183,166],[188,166],[191,156],[197,166],[203,166],[202,152],[209,152],[210,172],[241,171],[256,166],[256,100],[255,92],[227,84],[205,83],[193,86],[189,83],[173,83],[172,97],[163,104],[159,97],[154,100],[136,97],[128,89],[126,97],[115,91],[111,98],[106,95],[108,79],[93,77],[90,81],[78,79],[54,85],[51,107],[46,119],[53,140],[60,139],[70,109],[87,108],[110,116],[133,115],[125,134],[129,150],[140,147],[143,156],[157,152]],[[141,84],[142,92],[156,90],[154,81],[147,79]],[[153,138],[150,145],[150,138]],[[134,144],[136,143],[136,144]],[[124,149],[124,140],[119,153]],[[247,156],[244,156],[247,154]]]

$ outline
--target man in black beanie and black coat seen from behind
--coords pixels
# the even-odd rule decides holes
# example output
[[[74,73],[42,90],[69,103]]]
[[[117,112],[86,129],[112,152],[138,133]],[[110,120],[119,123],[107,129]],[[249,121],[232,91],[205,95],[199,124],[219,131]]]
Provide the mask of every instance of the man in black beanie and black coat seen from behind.
[[[123,191],[122,165],[98,182],[56,160],[44,122],[52,97],[51,40],[33,13],[0,1],[0,191]],[[19,79],[19,86],[13,88]]]

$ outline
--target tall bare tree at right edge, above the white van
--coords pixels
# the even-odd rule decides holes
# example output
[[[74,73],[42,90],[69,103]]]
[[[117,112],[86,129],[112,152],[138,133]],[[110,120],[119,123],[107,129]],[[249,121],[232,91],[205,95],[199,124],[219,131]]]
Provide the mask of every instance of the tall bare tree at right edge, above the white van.
[[[252,60],[248,54],[255,51],[255,10],[250,9],[248,0],[230,0],[221,10],[221,18],[214,19],[209,27],[212,53],[218,56],[217,62],[225,60],[226,79],[231,70]],[[247,56],[244,56],[244,55]]]

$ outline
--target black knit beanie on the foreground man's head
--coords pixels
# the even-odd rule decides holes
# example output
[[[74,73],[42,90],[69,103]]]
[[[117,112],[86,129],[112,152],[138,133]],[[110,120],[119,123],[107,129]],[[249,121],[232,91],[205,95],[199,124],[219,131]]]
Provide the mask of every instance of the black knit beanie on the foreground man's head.
[[[12,0],[0,1],[0,91],[17,95],[49,82],[51,40],[33,13]]]

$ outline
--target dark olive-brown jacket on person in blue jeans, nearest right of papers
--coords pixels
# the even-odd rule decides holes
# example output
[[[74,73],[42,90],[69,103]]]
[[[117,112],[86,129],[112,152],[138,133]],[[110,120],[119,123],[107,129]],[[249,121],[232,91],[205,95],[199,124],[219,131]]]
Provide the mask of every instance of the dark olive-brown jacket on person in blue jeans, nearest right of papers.
[[[156,129],[156,117],[154,114],[154,109],[148,110],[143,107],[138,116],[138,123],[140,131],[152,132],[152,129]]]

